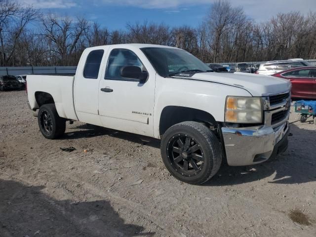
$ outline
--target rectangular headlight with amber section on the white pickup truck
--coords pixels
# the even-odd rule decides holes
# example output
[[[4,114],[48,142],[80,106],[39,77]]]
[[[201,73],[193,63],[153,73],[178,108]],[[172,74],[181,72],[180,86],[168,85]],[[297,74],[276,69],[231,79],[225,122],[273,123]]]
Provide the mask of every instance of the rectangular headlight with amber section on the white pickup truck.
[[[261,98],[227,96],[225,107],[225,122],[261,123]]]

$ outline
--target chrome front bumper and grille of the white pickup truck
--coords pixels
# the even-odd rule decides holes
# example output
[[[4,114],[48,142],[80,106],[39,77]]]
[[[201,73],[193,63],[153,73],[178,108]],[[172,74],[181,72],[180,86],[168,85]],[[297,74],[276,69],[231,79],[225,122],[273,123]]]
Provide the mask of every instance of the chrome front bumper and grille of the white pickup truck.
[[[279,104],[271,105],[263,97],[264,124],[257,127],[222,127],[226,158],[229,165],[251,165],[266,161],[287,148],[290,116],[289,95]],[[285,111],[285,118],[273,120],[273,115]]]

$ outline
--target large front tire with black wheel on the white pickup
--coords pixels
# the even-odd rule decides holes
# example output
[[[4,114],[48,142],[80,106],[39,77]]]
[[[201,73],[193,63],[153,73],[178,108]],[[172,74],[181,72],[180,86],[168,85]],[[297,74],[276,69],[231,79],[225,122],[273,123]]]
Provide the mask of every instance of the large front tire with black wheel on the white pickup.
[[[171,126],[161,139],[161,156],[168,171],[189,184],[203,184],[222,163],[222,149],[205,125],[185,121]]]

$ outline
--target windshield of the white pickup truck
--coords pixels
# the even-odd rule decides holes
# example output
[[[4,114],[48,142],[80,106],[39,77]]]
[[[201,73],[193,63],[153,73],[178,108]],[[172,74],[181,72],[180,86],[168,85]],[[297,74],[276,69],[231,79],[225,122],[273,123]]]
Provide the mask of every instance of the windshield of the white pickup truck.
[[[181,72],[210,72],[210,68],[191,53],[176,48],[141,48],[161,77],[172,77]]]

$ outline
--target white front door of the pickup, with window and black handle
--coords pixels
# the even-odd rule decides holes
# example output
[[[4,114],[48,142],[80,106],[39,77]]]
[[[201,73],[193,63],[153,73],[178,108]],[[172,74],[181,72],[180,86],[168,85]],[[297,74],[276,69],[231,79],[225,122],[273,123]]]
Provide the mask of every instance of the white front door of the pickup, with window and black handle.
[[[140,54],[141,51],[138,52]],[[145,58],[143,61],[147,62]],[[147,71],[147,81],[140,83],[139,79],[122,77],[121,69],[124,66],[137,66],[143,72]],[[156,72],[147,70],[132,50],[110,49],[104,77],[99,85],[99,115],[103,126],[153,136],[155,80]]]

